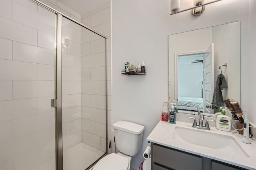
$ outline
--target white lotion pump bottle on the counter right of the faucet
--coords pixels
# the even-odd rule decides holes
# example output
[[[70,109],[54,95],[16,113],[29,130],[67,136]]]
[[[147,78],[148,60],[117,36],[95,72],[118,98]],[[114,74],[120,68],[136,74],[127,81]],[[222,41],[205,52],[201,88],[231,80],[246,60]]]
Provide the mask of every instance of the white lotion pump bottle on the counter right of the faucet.
[[[222,109],[221,115],[216,117],[216,128],[221,131],[230,131],[231,121],[230,117],[226,115],[226,109]]]

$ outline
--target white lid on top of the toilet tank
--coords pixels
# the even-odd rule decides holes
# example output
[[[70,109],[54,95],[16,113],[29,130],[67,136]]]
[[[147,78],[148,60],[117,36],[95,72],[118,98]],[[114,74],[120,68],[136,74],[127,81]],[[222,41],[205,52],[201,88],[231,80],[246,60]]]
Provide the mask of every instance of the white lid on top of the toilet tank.
[[[144,131],[144,126],[129,121],[117,121],[113,124],[114,129],[139,135]]]

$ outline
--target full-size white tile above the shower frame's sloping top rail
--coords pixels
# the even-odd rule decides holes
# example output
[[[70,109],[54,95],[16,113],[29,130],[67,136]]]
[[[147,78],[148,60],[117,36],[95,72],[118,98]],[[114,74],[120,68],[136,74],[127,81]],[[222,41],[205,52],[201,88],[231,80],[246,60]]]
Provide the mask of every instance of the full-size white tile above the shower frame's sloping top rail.
[[[110,7],[91,15],[91,27],[110,21]]]

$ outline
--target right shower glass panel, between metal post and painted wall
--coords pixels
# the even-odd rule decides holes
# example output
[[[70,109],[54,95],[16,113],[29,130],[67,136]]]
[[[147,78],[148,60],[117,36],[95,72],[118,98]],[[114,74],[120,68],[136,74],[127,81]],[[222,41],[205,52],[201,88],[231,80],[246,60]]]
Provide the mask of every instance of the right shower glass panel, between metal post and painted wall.
[[[63,169],[106,153],[106,39],[62,17]]]

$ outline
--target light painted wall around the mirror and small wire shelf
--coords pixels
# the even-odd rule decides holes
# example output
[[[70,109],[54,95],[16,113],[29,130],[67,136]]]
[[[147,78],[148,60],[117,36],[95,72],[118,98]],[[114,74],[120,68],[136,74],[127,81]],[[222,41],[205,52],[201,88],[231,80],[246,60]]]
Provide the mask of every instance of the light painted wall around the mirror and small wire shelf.
[[[255,45],[255,39],[250,38],[256,29],[253,1],[223,0],[194,17],[191,11],[170,16],[169,0],[112,0],[112,119],[145,125],[142,150],[132,158],[133,167],[143,160],[146,137],[160,120],[162,99],[168,95],[168,35],[176,32],[241,21],[241,105],[256,123],[250,97],[255,96],[254,86],[248,84],[255,84],[250,79],[256,72],[250,62],[255,61],[253,53],[249,53]],[[253,7],[248,13],[249,2]],[[124,61],[144,61],[147,75],[121,76]]]

